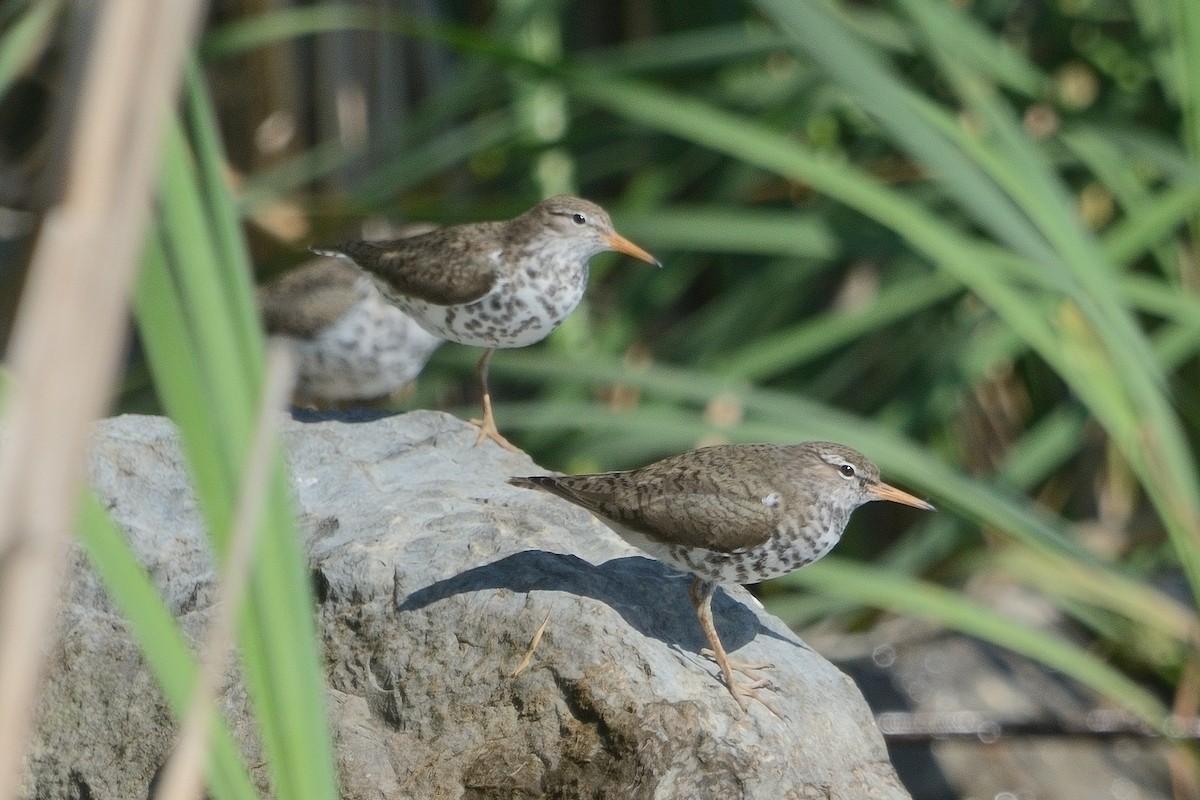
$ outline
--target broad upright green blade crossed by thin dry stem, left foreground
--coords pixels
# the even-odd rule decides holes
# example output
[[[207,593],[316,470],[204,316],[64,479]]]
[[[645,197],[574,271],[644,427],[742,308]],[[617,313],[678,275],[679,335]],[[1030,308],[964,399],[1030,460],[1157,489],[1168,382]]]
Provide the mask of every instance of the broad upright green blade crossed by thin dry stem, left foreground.
[[[221,223],[206,204],[229,200],[222,187],[204,185],[205,173],[194,167],[200,162],[181,127],[172,127],[161,192],[163,247],[146,259],[138,323],[156,389],[180,427],[200,509],[223,553],[260,381],[250,373],[262,355],[236,351],[238,317],[252,307],[248,281],[222,283],[227,267],[217,260],[241,248],[217,251],[211,231]],[[208,180],[216,179],[208,173]],[[257,331],[251,347],[262,349]],[[276,794],[328,799],[336,796],[336,780],[313,601],[289,504],[282,458],[276,458],[239,643]]]

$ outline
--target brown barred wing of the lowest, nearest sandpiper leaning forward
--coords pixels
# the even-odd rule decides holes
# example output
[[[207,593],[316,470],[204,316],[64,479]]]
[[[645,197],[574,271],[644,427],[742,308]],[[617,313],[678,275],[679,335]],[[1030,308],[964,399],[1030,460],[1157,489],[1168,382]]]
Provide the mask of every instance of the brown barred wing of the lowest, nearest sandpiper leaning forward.
[[[702,473],[539,476],[517,479],[599,517],[671,545],[732,553],[766,542],[782,521],[782,501],[764,481],[714,483]]]

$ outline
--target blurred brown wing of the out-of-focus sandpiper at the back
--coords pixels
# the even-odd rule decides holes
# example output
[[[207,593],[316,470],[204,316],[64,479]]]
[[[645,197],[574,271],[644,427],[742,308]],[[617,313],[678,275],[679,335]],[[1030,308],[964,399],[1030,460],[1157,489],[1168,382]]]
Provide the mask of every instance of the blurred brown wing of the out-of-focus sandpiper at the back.
[[[268,333],[307,338],[332,325],[358,301],[361,272],[322,258],[308,261],[258,289]]]

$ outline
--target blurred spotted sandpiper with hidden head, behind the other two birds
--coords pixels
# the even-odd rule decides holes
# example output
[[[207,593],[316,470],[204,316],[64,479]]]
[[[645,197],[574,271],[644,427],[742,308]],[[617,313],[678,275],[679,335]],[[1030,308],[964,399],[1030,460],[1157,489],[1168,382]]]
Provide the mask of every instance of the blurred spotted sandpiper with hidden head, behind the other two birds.
[[[338,407],[392,395],[442,344],[385,301],[349,264],[318,258],[258,290],[266,332],[296,357],[299,405]]]

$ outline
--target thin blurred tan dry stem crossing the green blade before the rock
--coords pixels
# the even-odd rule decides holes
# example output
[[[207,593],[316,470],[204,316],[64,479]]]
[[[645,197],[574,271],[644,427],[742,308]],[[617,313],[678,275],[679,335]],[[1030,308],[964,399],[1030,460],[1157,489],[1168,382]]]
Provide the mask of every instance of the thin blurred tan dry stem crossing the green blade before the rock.
[[[234,645],[238,609],[254,560],[254,545],[275,463],[271,456],[278,440],[277,415],[292,397],[295,371],[292,351],[283,344],[272,343],[268,351],[266,381],[254,440],[246,456],[245,476],[238,495],[229,554],[226,557],[217,600],[212,603],[212,619],[204,637],[199,678],[155,800],[196,800],[204,789],[205,745],[212,722],[217,681],[221,680]]]

